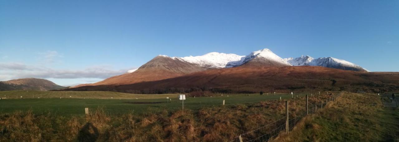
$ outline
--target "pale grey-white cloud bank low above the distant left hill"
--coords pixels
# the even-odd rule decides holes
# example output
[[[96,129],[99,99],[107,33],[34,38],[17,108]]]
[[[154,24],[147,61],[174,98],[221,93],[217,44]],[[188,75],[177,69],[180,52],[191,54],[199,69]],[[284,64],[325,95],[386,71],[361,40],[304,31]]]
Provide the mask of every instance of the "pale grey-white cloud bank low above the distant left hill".
[[[59,58],[63,55],[57,51],[45,51],[38,53],[38,62],[26,64],[24,62],[1,62],[0,61],[0,81],[13,80],[19,78],[43,78],[63,86],[73,86],[77,84],[93,83],[128,72],[129,69],[113,69],[112,65],[93,65],[81,70],[57,69],[52,67],[52,63],[58,62],[65,64]]]

